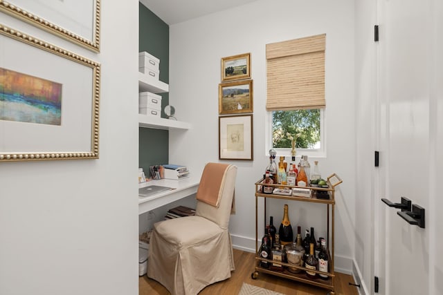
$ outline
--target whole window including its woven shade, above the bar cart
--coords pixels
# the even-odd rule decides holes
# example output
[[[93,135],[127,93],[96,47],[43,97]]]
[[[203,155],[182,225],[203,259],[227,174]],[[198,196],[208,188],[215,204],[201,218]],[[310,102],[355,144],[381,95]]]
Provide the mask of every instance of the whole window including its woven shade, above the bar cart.
[[[325,151],[325,41],[323,34],[266,44],[268,146],[287,150],[280,154],[290,154],[297,135],[298,155]]]

